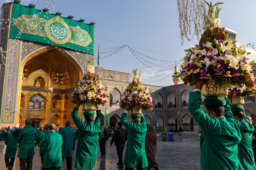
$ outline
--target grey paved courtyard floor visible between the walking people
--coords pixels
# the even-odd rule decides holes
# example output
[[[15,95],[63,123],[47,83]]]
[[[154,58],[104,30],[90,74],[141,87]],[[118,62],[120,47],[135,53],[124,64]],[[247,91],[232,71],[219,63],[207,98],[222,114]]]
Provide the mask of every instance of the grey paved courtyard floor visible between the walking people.
[[[106,158],[100,158],[100,147],[96,158],[96,166],[94,170],[118,170],[116,163],[118,162],[116,147],[110,147],[111,138],[106,144]],[[5,144],[0,142],[0,170],[5,168],[4,154]],[[123,158],[126,151],[126,146],[123,151]],[[18,152],[17,152],[18,153]],[[75,151],[73,151],[73,169],[74,168]],[[156,163],[160,170],[200,170],[200,142],[185,141],[185,142],[157,142]],[[15,159],[14,170],[20,169],[19,158]],[[35,147],[35,155],[33,157],[33,170],[41,170],[41,157],[39,148]],[[62,169],[66,169],[66,160],[63,162]],[[136,169],[136,168],[134,168]],[[121,169],[119,169],[121,170]]]

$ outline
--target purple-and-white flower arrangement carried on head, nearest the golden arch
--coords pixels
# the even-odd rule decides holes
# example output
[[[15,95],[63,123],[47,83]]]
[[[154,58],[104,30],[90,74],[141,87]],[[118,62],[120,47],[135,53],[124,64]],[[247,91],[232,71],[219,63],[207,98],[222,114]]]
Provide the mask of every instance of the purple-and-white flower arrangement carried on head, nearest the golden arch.
[[[86,73],[82,80],[75,84],[75,90],[70,93],[70,101],[87,103],[94,101],[97,104],[107,103],[107,87],[103,86],[97,73],[94,73],[93,59],[87,60]]]

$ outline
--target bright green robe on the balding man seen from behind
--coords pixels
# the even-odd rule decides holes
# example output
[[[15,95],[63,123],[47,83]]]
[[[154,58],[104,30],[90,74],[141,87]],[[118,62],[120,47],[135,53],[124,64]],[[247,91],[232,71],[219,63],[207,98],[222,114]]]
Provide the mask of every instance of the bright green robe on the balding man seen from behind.
[[[62,136],[60,134],[51,131],[46,135],[40,149],[44,153],[42,168],[62,166]]]

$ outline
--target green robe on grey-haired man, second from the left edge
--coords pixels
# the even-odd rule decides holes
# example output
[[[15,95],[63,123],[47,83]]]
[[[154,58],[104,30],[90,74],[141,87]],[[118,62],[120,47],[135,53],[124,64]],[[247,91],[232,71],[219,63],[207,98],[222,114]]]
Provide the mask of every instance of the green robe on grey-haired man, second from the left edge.
[[[37,135],[36,128],[31,125],[21,129],[17,136],[17,142],[20,143],[20,149],[17,158],[29,158],[34,156],[35,138]]]

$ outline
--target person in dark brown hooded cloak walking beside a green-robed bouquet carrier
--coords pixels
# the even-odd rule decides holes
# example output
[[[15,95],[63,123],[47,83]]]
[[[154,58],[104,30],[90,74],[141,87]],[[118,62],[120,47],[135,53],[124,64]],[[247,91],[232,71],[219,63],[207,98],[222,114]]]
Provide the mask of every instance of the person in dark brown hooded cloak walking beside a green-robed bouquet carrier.
[[[148,166],[145,168],[150,170],[154,168],[155,170],[158,169],[158,164],[155,161],[156,157],[156,132],[153,126],[148,127],[148,131],[146,132],[145,137],[145,151],[148,160]]]

